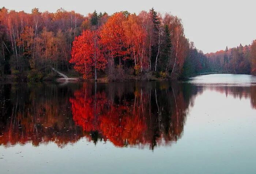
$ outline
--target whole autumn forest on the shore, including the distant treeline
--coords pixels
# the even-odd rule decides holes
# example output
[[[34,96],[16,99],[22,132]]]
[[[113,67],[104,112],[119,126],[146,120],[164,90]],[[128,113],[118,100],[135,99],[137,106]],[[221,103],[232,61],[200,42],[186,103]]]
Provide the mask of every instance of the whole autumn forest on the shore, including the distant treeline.
[[[256,41],[204,54],[179,17],[154,8],[83,16],[0,9],[0,76],[52,80],[55,68],[81,79],[182,79],[207,73],[256,74]]]

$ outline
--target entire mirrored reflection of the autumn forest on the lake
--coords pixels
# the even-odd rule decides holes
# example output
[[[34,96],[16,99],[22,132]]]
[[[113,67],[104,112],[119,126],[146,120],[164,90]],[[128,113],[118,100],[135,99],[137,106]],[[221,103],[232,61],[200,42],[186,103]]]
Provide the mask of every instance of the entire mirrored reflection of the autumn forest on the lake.
[[[181,138],[189,104],[205,87],[182,83],[2,84],[0,145],[55,142],[59,147],[86,137],[115,146],[170,145]],[[207,87],[208,88],[208,87]],[[251,98],[256,88],[212,87]]]

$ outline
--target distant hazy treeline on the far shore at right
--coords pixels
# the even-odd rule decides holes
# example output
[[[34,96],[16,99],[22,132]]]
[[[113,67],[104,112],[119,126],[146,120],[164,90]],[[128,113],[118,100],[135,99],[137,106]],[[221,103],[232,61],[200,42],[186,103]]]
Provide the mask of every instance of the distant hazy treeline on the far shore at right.
[[[190,48],[193,48],[191,46]],[[184,77],[205,73],[256,74],[256,40],[250,45],[204,54],[190,49],[183,66]]]

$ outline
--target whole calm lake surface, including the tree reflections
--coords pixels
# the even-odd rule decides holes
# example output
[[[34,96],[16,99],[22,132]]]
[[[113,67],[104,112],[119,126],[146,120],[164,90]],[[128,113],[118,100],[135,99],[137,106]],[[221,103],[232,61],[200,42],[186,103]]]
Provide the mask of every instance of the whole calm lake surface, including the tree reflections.
[[[255,82],[1,84],[0,173],[256,173]]]

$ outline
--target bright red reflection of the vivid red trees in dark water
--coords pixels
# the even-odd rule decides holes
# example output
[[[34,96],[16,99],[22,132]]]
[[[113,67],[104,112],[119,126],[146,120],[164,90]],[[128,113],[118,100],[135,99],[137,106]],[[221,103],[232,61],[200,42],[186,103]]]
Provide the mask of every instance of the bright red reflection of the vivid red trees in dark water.
[[[104,92],[98,92],[95,98],[87,86],[76,91],[74,97],[70,99],[73,119],[84,131],[98,131],[116,146],[135,145],[143,140],[146,124],[139,116],[139,107],[135,110],[129,103],[113,104],[106,100]]]

